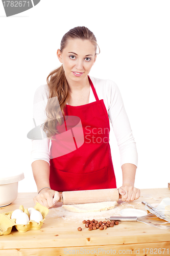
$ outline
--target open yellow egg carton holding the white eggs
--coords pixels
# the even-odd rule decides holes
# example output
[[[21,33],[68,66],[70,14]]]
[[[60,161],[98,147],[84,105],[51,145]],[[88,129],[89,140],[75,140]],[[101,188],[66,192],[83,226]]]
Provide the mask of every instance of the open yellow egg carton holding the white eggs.
[[[27,225],[18,225],[15,223],[16,219],[11,220],[11,215],[13,211],[8,211],[0,214],[0,236],[2,234],[10,234],[13,226],[15,226],[16,229],[21,233],[27,232],[28,230],[31,230],[31,229],[34,229],[34,230],[40,229],[43,224],[43,221],[45,220],[45,216],[48,214],[49,209],[45,206],[42,206],[39,203],[36,203],[34,208],[40,211],[42,214],[43,219],[39,223],[30,220]],[[28,209],[24,209],[23,205],[20,205],[19,209],[25,212],[30,218]]]

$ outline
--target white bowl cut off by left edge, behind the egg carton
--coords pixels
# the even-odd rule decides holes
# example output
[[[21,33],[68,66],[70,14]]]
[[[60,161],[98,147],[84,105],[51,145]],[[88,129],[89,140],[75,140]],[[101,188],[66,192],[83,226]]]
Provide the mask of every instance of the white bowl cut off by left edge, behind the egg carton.
[[[23,180],[23,173],[0,178],[0,207],[11,204],[18,196],[18,181]]]

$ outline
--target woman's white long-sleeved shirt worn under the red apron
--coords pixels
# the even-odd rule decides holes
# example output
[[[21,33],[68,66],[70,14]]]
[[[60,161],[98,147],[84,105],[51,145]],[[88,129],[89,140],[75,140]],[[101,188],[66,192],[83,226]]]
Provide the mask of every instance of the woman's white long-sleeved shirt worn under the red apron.
[[[117,140],[120,153],[120,165],[132,163],[137,166],[136,143],[132,134],[131,126],[127,113],[124,108],[122,96],[120,95],[117,84],[112,80],[99,79],[90,76],[99,100],[103,99],[109,120]],[[45,106],[48,98],[48,86],[44,84],[37,88],[34,95],[33,118],[36,125],[44,123],[46,119]],[[90,88],[89,103],[94,102],[95,97]],[[44,160],[50,164],[50,140],[32,141],[31,163],[35,160]],[[114,164],[114,163],[113,163]]]

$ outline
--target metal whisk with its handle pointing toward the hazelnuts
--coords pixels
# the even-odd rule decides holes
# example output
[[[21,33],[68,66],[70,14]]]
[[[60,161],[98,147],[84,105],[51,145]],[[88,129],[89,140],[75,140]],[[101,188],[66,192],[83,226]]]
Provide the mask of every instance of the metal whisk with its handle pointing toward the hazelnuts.
[[[160,220],[158,216],[155,215],[157,213],[160,216],[165,216],[166,220]],[[157,210],[154,213],[142,216],[142,217],[110,217],[106,218],[106,220],[115,220],[115,221],[139,221],[145,224],[148,224],[153,227],[161,228],[161,229],[170,229],[170,211],[169,210]]]

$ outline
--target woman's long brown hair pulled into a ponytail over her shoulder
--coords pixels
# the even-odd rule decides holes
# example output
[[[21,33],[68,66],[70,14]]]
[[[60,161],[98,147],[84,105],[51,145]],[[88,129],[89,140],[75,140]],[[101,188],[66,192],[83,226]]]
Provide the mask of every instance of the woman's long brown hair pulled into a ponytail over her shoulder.
[[[96,38],[94,34],[86,27],[75,27],[65,33],[65,35],[61,39],[60,51],[63,51],[69,39],[78,38],[83,40],[89,40],[94,45],[95,55],[97,54],[96,50],[98,44],[96,42]],[[61,124],[63,122],[62,115],[65,117],[64,109],[66,101],[69,98],[69,88],[65,77],[63,65],[53,70],[47,76],[46,81],[50,93],[45,108],[47,119],[44,122],[43,131],[46,133],[48,138],[52,139],[52,136],[58,133],[56,130],[57,123]],[[56,100],[56,98],[58,100]]]

